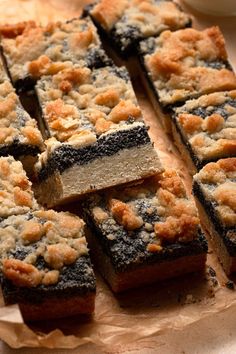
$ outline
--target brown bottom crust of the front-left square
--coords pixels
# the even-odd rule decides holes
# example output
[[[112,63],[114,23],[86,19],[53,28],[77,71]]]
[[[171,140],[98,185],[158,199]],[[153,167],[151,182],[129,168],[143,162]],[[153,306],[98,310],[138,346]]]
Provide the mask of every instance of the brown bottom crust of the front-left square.
[[[40,321],[75,316],[90,315],[94,312],[95,292],[90,294],[72,295],[66,298],[49,298],[40,304],[19,303],[25,321]]]

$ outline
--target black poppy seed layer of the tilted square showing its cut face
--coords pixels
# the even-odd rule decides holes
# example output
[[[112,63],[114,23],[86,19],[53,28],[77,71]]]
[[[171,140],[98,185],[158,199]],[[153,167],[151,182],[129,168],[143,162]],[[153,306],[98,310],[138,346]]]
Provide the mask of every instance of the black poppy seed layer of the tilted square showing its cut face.
[[[93,160],[105,156],[112,156],[120,150],[150,144],[150,138],[145,126],[121,130],[98,138],[93,145],[80,149],[70,145],[62,145],[55,149],[47,160],[46,166],[39,171],[38,177],[42,181],[55,171],[64,172],[73,165],[85,165]]]

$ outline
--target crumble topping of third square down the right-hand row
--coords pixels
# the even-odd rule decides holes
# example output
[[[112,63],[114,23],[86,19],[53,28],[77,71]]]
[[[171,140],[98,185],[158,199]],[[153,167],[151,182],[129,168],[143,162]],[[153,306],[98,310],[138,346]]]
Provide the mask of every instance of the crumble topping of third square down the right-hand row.
[[[175,121],[200,160],[236,156],[236,91],[189,100]]]

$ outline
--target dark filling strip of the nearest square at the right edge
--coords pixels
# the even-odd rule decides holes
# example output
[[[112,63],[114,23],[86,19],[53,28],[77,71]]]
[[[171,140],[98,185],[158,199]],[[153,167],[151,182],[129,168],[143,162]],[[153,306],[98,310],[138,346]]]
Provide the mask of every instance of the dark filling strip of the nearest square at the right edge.
[[[207,216],[212,223],[212,226],[222,238],[224,245],[230,256],[236,256],[236,228],[235,227],[225,227],[220,221],[217,212],[215,210],[216,203],[212,203],[210,200],[207,200],[204,192],[201,188],[201,185],[194,181],[193,182],[193,194],[199,200],[202,207],[204,208]]]

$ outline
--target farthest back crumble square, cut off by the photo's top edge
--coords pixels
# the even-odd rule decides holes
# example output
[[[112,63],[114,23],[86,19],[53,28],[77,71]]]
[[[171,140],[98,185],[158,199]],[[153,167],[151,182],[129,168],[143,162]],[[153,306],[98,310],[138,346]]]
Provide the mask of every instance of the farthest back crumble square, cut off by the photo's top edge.
[[[101,0],[89,5],[85,12],[122,58],[134,55],[144,38],[191,25],[190,16],[173,1]]]

